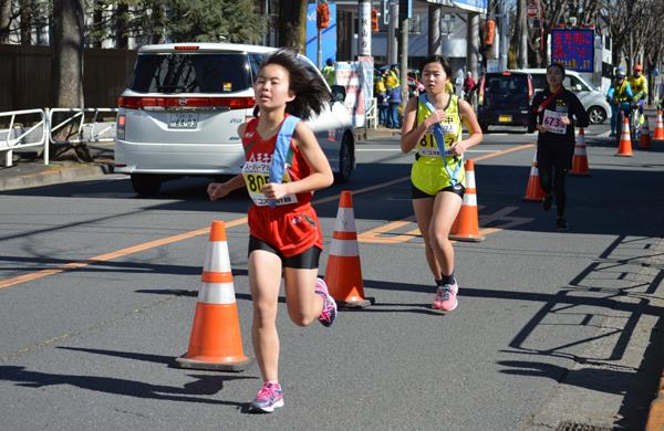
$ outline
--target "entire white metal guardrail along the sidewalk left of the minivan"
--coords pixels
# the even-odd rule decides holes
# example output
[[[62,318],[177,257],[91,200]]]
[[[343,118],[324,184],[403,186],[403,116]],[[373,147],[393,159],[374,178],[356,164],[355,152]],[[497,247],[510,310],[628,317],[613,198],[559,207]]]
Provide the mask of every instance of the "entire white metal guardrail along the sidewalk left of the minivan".
[[[60,123],[53,124],[54,116]],[[44,165],[49,165],[49,144],[110,143],[115,139],[117,108],[44,108],[0,113],[0,123],[9,117],[7,128],[0,128],[0,154],[4,153],[4,166],[12,166],[13,150],[43,147]],[[35,119],[37,117],[37,119]],[[110,120],[108,117],[113,117]],[[25,126],[30,124],[30,126]],[[64,132],[64,140],[55,140],[53,134]]]

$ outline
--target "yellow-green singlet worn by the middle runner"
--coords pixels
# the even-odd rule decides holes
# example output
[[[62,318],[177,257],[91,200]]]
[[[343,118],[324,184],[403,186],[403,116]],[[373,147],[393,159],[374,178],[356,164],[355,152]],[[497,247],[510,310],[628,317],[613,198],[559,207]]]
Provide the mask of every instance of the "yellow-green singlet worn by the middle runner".
[[[461,139],[461,117],[459,109],[459,98],[455,95],[449,97],[449,103],[445,108],[445,120],[440,122],[445,136],[445,149]],[[424,123],[430,115],[429,109],[421,101],[417,102],[416,125]],[[464,185],[466,172],[461,157],[446,156],[440,157],[438,145],[434,134],[427,130],[419,143],[415,146],[417,155],[411,170],[411,181],[417,189],[427,195],[435,196],[440,190],[455,186]],[[455,176],[454,181],[450,176]]]

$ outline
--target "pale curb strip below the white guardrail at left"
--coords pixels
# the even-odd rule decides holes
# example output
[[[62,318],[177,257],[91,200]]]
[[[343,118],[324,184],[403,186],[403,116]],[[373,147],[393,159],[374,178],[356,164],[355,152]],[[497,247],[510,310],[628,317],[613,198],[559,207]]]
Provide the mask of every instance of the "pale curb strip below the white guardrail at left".
[[[0,190],[17,190],[113,174],[113,164],[63,165],[41,172],[0,178]]]

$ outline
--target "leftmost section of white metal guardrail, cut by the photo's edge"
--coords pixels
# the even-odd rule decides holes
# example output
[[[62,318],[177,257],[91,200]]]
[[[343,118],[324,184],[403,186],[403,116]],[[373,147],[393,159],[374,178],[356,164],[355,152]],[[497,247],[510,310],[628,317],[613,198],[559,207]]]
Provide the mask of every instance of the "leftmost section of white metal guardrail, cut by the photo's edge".
[[[27,116],[38,114],[40,116],[40,120],[25,129],[24,127],[15,126],[17,116]],[[6,129],[0,129],[0,134],[7,134],[4,137],[0,137],[0,153],[4,153],[4,166],[12,166],[12,157],[13,150],[27,147],[44,147],[44,165],[49,164],[49,146],[46,144],[46,133],[48,133],[48,119],[46,113],[44,109],[23,109],[23,111],[10,111],[6,113],[0,113],[0,117],[11,117],[9,120],[9,127]],[[39,140],[30,141],[27,138],[30,135],[34,135],[39,127],[41,127],[41,135],[37,134]],[[18,136],[12,136],[14,134],[19,134]]]

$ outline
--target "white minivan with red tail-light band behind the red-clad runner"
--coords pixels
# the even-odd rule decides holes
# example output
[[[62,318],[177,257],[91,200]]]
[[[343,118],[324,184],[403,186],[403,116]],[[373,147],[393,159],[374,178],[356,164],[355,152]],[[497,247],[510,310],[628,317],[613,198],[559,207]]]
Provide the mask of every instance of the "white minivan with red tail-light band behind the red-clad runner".
[[[184,176],[237,175],[243,164],[238,126],[251,118],[253,77],[270,46],[168,43],[138,50],[127,88],[118,98],[115,172],[128,174],[141,196]],[[311,61],[309,71],[325,80]],[[326,84],[324,84],[326,85]],[[351,113],[342,86],[307,124],[323,148],[338,182],[355,167]]]

